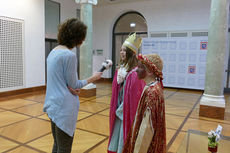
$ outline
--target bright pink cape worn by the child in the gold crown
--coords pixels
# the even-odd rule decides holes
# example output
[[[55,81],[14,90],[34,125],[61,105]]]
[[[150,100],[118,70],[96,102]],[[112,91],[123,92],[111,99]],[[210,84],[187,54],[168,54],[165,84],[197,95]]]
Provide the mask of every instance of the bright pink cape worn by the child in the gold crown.
[[[144,81],[138,79],[136,68],[131,70],[127,74],[125,79],[126,83],[125,83],[125,87],[124,87],[125,89],[123,93],[124,94],[124,101],[123,101],[123,141],[124,142],[132,126],[133,120],[136,115],[138,102],[140,100],[141,93],[145,86]],[[117,71],[116,71],[113,79],[113,84],[112,84],[112,97],[110,103],[109,144],[110,144],[110,139],[113,133],[114,123],[116,119],[119,89],[120,89],[120,85],[117,84]],[[110,153],[110,151],[108,152]]]

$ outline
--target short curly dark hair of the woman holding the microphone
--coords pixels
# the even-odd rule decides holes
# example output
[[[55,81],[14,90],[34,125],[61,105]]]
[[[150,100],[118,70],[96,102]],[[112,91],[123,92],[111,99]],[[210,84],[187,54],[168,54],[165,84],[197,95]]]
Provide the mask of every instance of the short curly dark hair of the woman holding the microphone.
[[[69,49],[81,44],[86,37],[87,26],[76,18],[67,19],[58,27],[58,43]]]

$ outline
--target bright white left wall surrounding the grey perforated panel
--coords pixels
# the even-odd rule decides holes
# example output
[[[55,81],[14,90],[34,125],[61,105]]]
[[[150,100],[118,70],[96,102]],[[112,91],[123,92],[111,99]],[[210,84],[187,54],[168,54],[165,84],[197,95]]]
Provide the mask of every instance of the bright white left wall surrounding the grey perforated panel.
[[[45,84],[45,26],[43,0],[1,0],[0,15],[25,22],[26,88]]]

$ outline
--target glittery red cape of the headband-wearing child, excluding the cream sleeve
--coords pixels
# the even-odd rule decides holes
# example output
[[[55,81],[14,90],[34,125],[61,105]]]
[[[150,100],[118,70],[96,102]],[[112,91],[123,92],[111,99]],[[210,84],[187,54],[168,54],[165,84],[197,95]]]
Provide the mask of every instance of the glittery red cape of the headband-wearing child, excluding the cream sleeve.
[[[144,113],[147,109],[150,110],[149,121],[151,122],[154,132],[150,137],[149,142],[145,142],[146,139],[141,140],[144,143],[150,144],[146,148],[146,153],[166,153],[165,103],[163,89],[159,82],[147,87],[147,89],[143,92],[134,125],[132,126],[123,147],[123,153],[134,152],[137,136],[144,118]]]

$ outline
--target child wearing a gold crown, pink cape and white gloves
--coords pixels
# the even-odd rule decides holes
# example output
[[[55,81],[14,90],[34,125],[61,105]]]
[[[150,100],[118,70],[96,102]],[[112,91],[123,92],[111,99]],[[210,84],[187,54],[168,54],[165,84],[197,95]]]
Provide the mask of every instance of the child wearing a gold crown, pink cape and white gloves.
[[[129,36],[120,50],[120,66],[112,85],[110,104],[110,135],[108,153],[122,153],[122,148],[133,124],[139,99],[145,86],[137,77],[137,56],[141,38]]]

